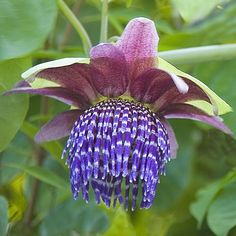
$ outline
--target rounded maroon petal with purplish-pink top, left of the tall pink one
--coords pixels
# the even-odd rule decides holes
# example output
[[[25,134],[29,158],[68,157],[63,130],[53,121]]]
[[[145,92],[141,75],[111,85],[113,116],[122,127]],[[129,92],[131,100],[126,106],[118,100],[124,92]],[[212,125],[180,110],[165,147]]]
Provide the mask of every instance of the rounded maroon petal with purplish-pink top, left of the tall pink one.
[[[127,67],[122,52],[112,44],[99,44],[90,51],[92,78],[103,96],[117,97],[127,88]]]

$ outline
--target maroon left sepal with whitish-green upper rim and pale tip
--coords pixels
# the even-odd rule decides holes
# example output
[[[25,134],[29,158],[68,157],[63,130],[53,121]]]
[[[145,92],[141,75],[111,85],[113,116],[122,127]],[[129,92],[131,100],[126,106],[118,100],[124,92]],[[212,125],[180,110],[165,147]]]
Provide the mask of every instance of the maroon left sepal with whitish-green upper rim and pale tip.
[[[61,86],[77,93],[88,103],[97,94],[91,84],[91,69],[86,58],[64,58],[34,66],[22,77],[35,88]]]

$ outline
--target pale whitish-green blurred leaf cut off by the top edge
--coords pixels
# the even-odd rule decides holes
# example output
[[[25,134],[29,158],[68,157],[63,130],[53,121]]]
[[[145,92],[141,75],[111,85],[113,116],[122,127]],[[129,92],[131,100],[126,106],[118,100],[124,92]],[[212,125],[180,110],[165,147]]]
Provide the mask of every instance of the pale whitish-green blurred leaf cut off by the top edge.
[[[186,22],[193,22],[207,16],[222,0],[172,0]]]

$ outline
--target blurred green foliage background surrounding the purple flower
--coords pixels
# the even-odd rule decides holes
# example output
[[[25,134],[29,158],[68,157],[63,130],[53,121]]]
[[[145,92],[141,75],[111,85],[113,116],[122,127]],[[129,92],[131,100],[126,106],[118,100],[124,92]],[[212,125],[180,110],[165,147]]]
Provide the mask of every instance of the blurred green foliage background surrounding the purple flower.
[[[101,1],[66,3],[93,45],[99,43]],[[113,0],[108,32],[109,38],[119,36],[128,20],[146,16],[156,23],[160,51],[236,43],[235,15],[234,0]],[[19,81],[31,64],[84,56],[81,40],[56,0],[1,0],[0,29],[0,92]],[[235,59],[178,67],[202,80],[236,110]],[[106,209],[93,199],[88,205],[72,199],[68,170],[60,160],[64,140],[42,146],[33,142],[42,123],[66,108],[38,96],[0,97],[1,236],[6,231],[13,236],[236,235],[233,138],[197,122],[173,121],[178,158],[168,164],[153,207],[135,212]],[[236,133],[235,114],[224,118]]]

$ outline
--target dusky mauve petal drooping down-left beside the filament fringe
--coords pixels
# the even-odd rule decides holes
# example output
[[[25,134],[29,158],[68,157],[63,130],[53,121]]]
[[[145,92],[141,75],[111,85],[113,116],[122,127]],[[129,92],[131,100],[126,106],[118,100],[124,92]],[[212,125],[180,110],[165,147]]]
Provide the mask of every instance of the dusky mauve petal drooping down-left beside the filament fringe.
[[[68,136],[73,124],[82,112],[83,111],[81,110],[70,110],[60,113],[54,119],[41,127],[35,136],[35,141],[42,143]]]

